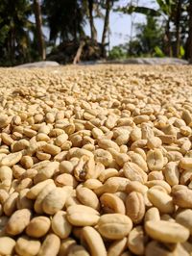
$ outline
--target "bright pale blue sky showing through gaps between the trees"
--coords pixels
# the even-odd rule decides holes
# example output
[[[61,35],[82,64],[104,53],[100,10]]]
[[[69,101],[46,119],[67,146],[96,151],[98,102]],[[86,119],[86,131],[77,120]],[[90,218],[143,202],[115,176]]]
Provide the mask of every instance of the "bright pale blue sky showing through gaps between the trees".
[[[116,6],[126,6],[130,3],[131,0],[119,0]],[[132,3],[137,3],[139,6],[145,7],[153,7],[157,9],[156,1],[153,0],[132,0]],[[131,27],[132,22],[135,23],[144,23],[146,20],[145,15],[139,13],[133,13],[132,15],[123,14],[123,13],[115,13],[111,12],[109,16],[109,28],[110,28],[110,36],[109,36],[109,48],[111,49],[113,46],[126,43],[130,40],[131,37]],[[104,27],[104,21],[99,18],[94,19],[95,27],[98,33],[98,40],[101,41],[102,32]],[[90,36],[90,27],[87,23],[84,28],[85,34]],[[135,31],[132,31],[132,35]]]

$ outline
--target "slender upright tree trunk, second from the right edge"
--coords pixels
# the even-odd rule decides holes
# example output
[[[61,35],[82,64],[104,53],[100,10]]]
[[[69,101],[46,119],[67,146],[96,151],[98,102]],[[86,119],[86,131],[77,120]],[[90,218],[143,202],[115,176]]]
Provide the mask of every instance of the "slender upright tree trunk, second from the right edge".
[[[181,9],[181,0],[178,1],[177,5],[177,13],[176,13],[176,53],[175,56],[177,58],[180,57],[180,9]]]

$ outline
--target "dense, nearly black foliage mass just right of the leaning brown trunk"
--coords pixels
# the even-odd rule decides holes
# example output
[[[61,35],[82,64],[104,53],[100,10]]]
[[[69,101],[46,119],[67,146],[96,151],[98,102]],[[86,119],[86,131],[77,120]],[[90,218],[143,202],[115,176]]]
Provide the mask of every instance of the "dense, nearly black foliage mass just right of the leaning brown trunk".
[[[72,40],[84,36],[84,2],[80,0],[43,0],[42,12],[50,28],[50,40]]]

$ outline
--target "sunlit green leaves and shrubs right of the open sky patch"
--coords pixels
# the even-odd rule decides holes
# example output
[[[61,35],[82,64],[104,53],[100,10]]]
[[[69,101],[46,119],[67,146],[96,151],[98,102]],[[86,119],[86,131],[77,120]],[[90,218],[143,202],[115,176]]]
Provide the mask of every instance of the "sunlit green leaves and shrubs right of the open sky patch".
[[[187,52],[183,51],[184,48],[186,48],[187,45],[187,37],[189,37],[189,15],[188,15],[188,8],[190,1],[189,0],[156,0],[156,4],[158,5],[158,9],[152,9],[151,7],[143,7],[143,6],[136,6],[132,4],[128,4],[126,7],[117,8],[115,11],[122,12],[122,13],[142,13],[145,14],[147,19],[149,17],[161,17],[162,27],[161,32],[164,33],[163,39],[162,37],[160,42],[156,42],[156,38],[152,36],[153,34],[153,28],[150,29],[148,26],[147,30],[151,30],[152,33],[149,33],[147,35],[147,31],[141,31],[140,33],[144,33],[142,39],[146,41],[147,38],[151,38],[153,43],[147,42],[147,45],[150,46],[150,55],[159,55],[163,56],[164,52],[172,56],[172,54],[175,57],[182,58],[185,55],[187,56]],[[154,30],[156,31],[156,30]],[[188,34],[188,35],[187,35]],[[137,37],[138,38],[138,37]],[[137,39],[136,38],[136,39]],[[154,41],[155,39],[155,41]],[[143,42],[144,42],[143,41]],[[155,43],[154,43],[155,42]],[[138,51],[138,43],[134,42],[134,47],[136,46],[136,49]],[[145,47],[146,42],[142,43],[142,54],[146,54],[147,49]],[[179,53],[180,44],[184,45],[184,48],[182,48],[181,53]],[[132,46],[132,45],[131,45]],[[144,46],[144,48],[143,48]],[[157,48],[156,48],[157,46]],[[133,47],[133,48],[134,48]],[[162,50],[163,49],[163,50]],[[161,52],[160,52],[160,51]],[[153,53],[154,52],[154,53]]]

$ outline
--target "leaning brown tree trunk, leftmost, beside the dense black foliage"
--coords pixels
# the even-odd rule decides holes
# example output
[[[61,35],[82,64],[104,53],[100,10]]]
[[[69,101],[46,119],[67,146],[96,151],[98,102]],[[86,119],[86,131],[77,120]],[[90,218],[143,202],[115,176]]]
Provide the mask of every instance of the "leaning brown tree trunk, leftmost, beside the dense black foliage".
[[[38,0],[34,0],[34,13],[36,17],[36,36],[37,36],[37,44],[38,44],[38,53],[41,60],[46,59],[45,47],[44,47],[44,39],[42,36],[42,17],[40,11],[40,5]]]

